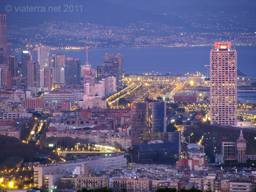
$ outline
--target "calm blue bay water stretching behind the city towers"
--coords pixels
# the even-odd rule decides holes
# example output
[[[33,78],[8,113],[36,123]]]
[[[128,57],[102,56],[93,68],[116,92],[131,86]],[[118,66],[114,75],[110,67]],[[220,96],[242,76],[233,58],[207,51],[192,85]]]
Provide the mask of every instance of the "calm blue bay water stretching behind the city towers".
[[[88,62],[95,68],[102,64],[103,54],[123,55],[125,73],[170,73],[184,74],[201,72],[209,74],[204,65],[209,65],[211,46],[194,47],[153,47],[153,48],[91,48],[88,50]],[[256,46],[235,46],[237,66],[249,77],[256,77]],[[86,50],[54,50],[51,53],[64,53],[67,57],[79,58],[86,63]],[[20,52],[15,52],[18,59]],[[37,60],[37,52],[34,52]]]

